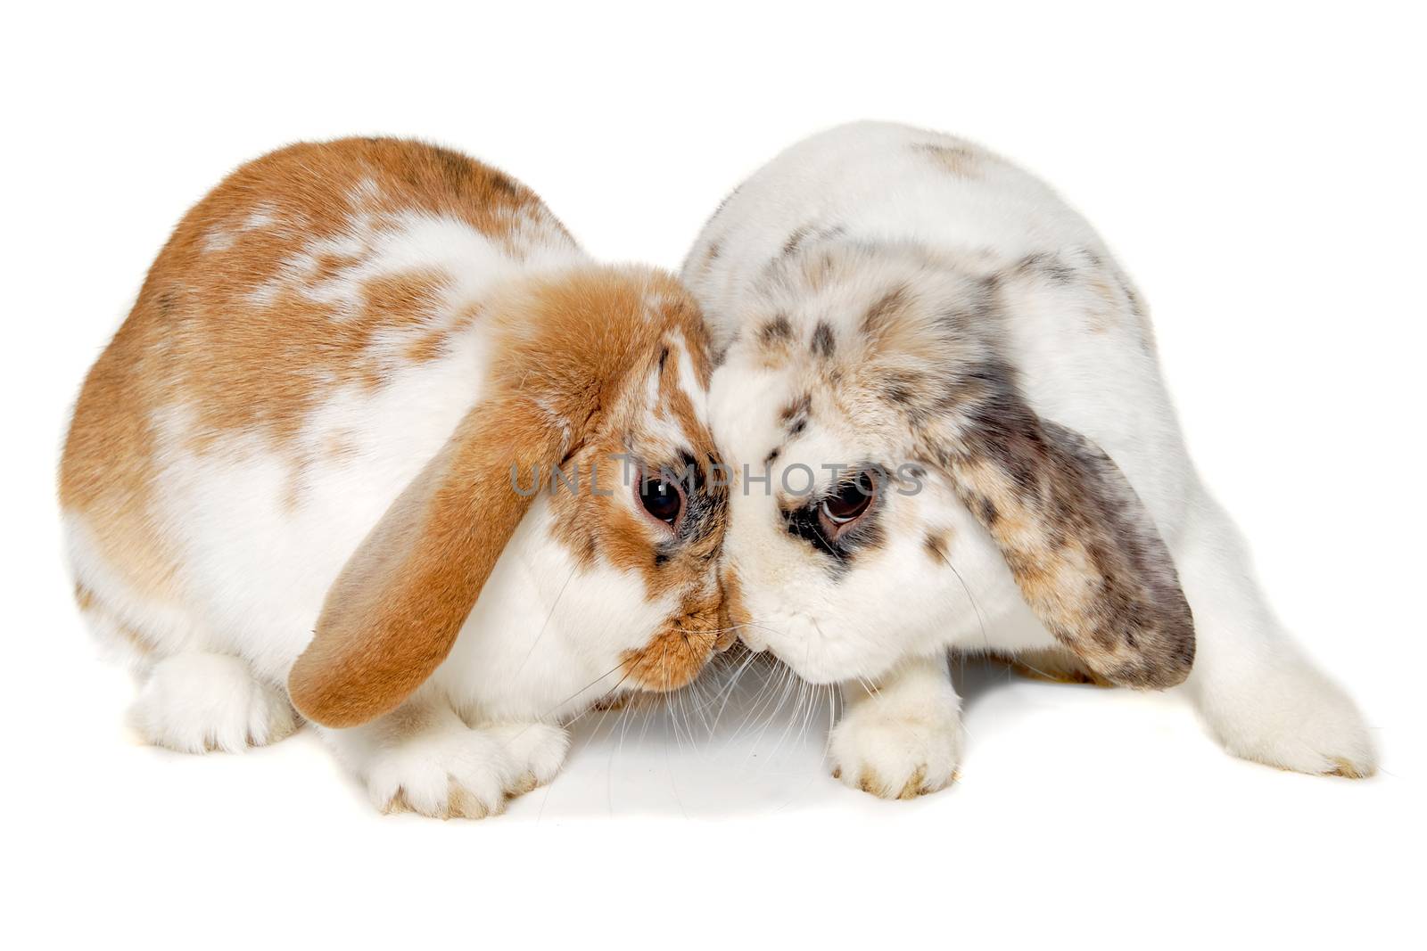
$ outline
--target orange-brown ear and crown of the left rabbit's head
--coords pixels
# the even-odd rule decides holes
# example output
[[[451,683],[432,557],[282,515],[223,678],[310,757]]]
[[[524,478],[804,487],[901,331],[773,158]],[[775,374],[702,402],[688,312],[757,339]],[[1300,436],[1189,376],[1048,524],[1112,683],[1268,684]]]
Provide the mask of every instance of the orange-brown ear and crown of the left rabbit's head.
[[[324,726],[372,720],[405,700],[451,652],[534,493],[618,405],[651,341],[698,309],[671,277],[644,268],[561,271],[489,302],[485,399],[407,486],[327,593],[287,686]]]

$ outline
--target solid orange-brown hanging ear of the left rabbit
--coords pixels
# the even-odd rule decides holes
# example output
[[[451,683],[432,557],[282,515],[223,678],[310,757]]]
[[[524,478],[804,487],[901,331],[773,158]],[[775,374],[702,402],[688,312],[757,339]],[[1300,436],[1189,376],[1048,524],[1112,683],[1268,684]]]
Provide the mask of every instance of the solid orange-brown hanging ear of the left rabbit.
[[[528,402],[472,408],[391,503],[327,592],[317,632],[288,674],[298,711],[358,726],[401,704],[440,666],[529,509],[528,479],[564,458],[571,432]],[[578,433],[575,433],[578,435]]]

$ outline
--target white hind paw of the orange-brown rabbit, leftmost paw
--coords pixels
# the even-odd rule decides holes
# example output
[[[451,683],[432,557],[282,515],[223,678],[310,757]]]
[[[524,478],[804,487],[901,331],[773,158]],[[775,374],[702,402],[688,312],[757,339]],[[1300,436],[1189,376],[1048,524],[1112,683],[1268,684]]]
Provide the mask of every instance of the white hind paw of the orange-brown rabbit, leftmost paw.
[[[128,711],[154,746],[180,753],[277,743],[297,729],[287,696],[227,654],[183,653],[154,664]]]

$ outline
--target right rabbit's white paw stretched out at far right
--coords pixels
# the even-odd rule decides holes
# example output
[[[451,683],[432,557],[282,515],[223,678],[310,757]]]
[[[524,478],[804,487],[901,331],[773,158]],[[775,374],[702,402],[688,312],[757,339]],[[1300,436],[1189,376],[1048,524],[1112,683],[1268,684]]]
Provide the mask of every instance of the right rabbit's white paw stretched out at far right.
[[[1200,703],[1224,749],[1296,773],[1360,778],[1377,753],[1351,699],[1306,662],[1236,689],[1203,689]]]

